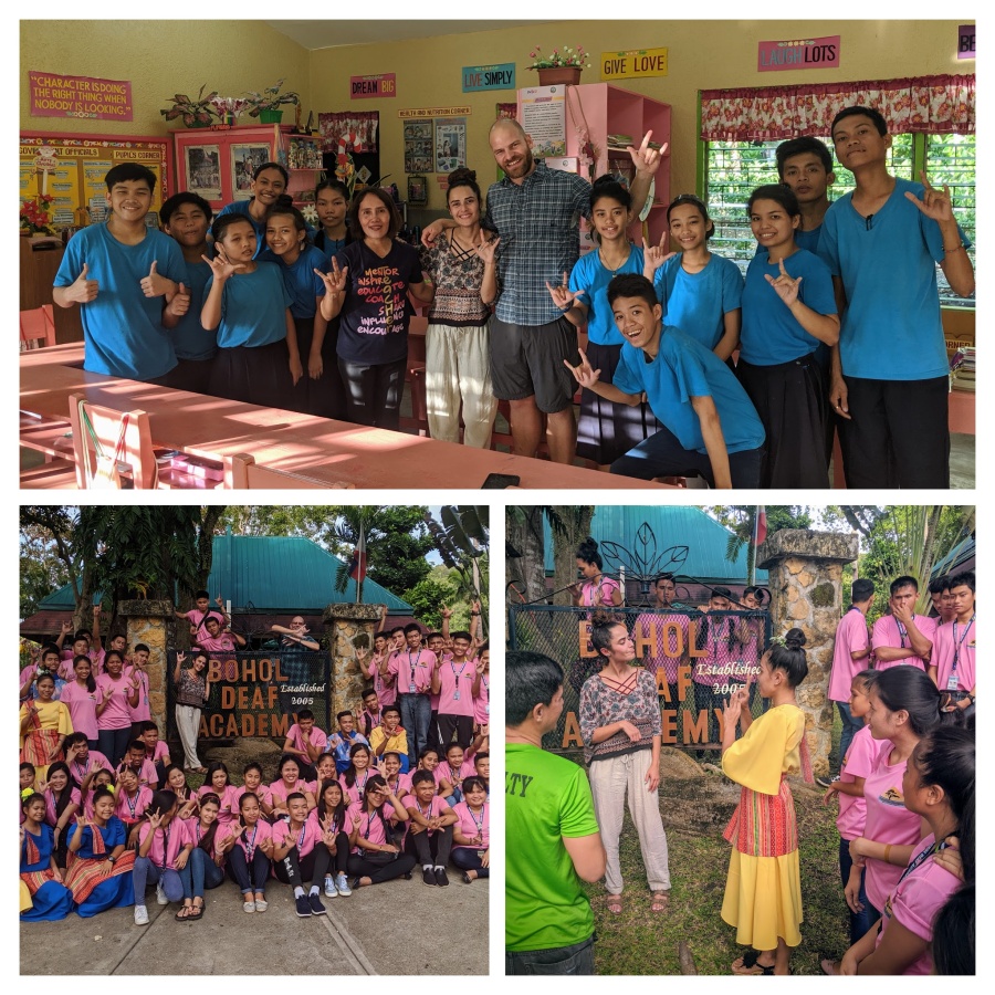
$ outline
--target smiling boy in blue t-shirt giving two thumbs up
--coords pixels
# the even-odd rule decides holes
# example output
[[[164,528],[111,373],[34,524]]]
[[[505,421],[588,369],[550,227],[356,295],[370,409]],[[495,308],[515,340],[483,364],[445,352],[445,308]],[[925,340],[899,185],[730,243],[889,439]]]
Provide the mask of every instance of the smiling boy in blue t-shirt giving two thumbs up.
[[[52,300],[81,306],[83,368],[169,386],[176,353],[163,324],[185,275],[176,242],[145,224],[156,175],[137,163],[107,172],[111,217],[76,232],[65,248]]]

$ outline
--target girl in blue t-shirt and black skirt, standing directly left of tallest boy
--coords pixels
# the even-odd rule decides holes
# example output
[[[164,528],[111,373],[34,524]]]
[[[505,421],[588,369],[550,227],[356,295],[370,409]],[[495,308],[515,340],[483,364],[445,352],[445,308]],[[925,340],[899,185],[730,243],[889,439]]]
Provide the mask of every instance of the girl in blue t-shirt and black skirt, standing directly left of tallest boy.
[[[787,187],[757,187],[746,212],[760,250],[746,271],[736,376],[767,436],[761,486],[826,488],[827,386],[817,350],[839,339],[832,277],[795,244],[802,211]]]

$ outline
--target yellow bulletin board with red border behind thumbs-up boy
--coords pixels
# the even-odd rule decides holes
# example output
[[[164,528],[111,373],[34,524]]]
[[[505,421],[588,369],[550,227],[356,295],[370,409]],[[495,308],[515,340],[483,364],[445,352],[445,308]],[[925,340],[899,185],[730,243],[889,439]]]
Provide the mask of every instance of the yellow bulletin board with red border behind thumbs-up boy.
[[[43,174],[35,166],[42,148],[52,150],[56,165]],[[107,186],[104,177],[121,163],[139,163],[156,175],[156,189],[150,210],[158,216],[163,201],[172,193],[169,164],[172,149],[168,137],[123,135],[57,135],[48,132],[22,132],[20,136],[20,175],[18,193],[23,201],[36,197],[44,188],[52,202],[52,227],[80,224],[80,208],[92,208],[88,221],[104,220]]]

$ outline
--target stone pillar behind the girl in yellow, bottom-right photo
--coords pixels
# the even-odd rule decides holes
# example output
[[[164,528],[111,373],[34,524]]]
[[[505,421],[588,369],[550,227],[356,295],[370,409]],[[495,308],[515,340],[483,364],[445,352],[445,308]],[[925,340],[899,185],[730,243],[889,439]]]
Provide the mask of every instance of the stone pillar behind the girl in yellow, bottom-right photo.
[[[842,611],[842,568],[857,559],[857,552],[852,534],[784,528],[756,555],[756,565],[768,572],[774,635],[783,636],[790,628],[805,633],[808,677],[796,693],[808,716],[806,735],[817,775],[829,773],[834,718],[829,671]]]

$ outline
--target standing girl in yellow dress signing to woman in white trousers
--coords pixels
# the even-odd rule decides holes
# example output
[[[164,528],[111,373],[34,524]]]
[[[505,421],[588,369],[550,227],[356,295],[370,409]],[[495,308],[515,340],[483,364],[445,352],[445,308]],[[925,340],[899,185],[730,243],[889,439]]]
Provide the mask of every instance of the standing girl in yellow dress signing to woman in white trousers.
[[[811,781],[805,713],[795,700],[808,673],[804,645],[805,633],[790,629],[761,659],[757,687],[771,700],[767,712],[752,720],[748,679],[724,710],[722,771],[742,795],[725,829],[733,850],[722,919],[736,928],[737,943],[752,947],[733,962],[733,974],[788,974],[789,947],[802,942],[798,830],[785,778],[804,768]]]

